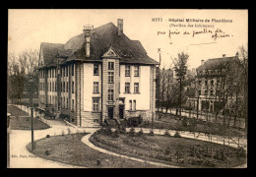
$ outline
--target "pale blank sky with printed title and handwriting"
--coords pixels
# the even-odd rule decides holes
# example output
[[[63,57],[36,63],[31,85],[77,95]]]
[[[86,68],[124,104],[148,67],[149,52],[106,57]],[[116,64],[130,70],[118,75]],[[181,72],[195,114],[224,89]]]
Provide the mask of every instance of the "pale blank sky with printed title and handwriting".
[[[220,58],[223,54],[234,56],[239,46],[248,45],[247,10],[11,9],[8,52],[19,55],[26,49],[39,49],[40,42],[66,43],[82,33],[87,24],[97,28],[112,22],[117,26],[117,19],[123,19],[124,33],[130,39],[140,40],[151,58],[160,61],[161,56],[161,68],[171,65],[179,52],[189,55],[188,66],[192,69],[199,67],[201,60]],[[191,21],[186,22],[187,19]],[[215,34],[223,37],[215,39]]]

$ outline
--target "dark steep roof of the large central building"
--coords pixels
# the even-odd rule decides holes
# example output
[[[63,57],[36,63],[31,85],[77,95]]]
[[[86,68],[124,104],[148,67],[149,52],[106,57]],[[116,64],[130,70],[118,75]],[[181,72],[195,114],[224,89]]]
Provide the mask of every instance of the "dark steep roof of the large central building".
[[[131,40],[125,34],[118,35],[118,29],[112,23],[92,29],[90,32],[90,57],[86,57],[84,33],[70,38],[65,44],[41,43],[44,64],[56,64],[57,58],[83,61],[102,59],[102,55],[112,47],[120,56],[122,63],[159,64],[147,55],[139,40]]]

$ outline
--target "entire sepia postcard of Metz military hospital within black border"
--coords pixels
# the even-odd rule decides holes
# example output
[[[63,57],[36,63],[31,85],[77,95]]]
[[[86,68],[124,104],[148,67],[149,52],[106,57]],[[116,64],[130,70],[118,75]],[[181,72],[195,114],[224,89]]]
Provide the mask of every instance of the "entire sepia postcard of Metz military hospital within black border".
[[[9,9],[7,168],[247,168],[247,9]]]

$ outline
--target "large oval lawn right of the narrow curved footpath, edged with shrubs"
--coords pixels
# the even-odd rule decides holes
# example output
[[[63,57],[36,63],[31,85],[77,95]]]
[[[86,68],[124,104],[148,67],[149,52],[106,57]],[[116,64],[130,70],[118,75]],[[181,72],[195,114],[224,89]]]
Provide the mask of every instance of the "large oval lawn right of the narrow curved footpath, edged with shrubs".
[[[97,147],[117,153],[187,168],[226,168],[246,162],[246,153],[242,149],[172,136],[136,134],[107,135],[98,131],[90,141]]]

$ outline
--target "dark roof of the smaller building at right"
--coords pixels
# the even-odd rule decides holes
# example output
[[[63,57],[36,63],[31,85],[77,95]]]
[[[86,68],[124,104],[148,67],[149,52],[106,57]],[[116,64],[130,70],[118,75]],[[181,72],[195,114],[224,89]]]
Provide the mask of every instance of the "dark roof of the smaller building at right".
[[[237,56],[232,57],[223,57],[223,58],[212,58],[204,62],[203,65],[197,68],[198,71],[202,70],[215,70],[220,69],[221,67],[225,67],[231,61],[238,60]]]

